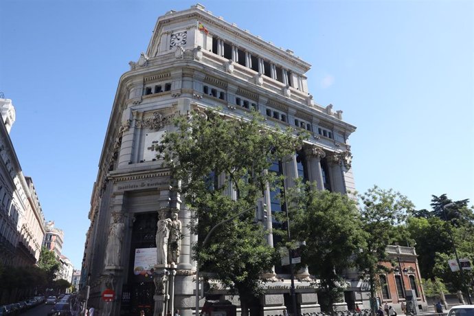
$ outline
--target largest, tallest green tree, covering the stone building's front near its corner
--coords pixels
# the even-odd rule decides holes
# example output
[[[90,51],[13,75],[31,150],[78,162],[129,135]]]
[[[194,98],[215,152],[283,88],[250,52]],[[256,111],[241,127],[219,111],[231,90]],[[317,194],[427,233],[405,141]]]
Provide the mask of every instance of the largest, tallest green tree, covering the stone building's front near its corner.
[[[278,182],[265,172],[272,161],[294,153],[304,135],[269,129],[255,112],[244,119],[216,111],[192,113],[175,124],[177,131],[167,133],[159,149],[192,211],[190,229],[199,236],[195,259],[239,294],[242,315],[247,315],[249,302],[262,293],[259,277],[273,266],[275,251],[255,214],[244,211],[257,204],[267,183]],[[229,188],[236,196],[228,194]],[[203,247],[212,227],[240,212],[244,214],[218,227]]]

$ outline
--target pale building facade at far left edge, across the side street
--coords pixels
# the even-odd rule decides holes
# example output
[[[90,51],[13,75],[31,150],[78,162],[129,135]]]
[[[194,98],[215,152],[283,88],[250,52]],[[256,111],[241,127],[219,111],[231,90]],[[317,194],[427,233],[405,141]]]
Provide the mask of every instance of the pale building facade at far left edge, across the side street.
[[[30,177],[25,177],[10,129],[16,119],[12,100],[0,96],[0,264],[34,265],[45,234],[44,215]]]

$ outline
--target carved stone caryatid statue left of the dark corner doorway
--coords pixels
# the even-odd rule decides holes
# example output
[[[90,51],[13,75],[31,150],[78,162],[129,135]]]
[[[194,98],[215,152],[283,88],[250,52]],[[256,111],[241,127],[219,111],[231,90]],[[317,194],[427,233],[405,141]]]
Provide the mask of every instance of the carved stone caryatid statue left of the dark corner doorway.
[[[109,237],[107,238],[107,247],[105,251],[104,265],[106,267],[117,267],[121,265],[120,261],[122,259],[124,228],[125,224],[122,220],[122,213],[113,212],[111,229],[109,231]]]

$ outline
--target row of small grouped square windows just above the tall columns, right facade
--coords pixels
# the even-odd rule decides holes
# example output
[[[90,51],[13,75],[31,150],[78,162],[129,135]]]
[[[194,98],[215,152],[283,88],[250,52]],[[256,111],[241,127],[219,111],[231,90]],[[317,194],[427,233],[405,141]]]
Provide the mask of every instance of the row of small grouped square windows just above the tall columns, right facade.
[[[220,100],[226,100],[226,93],[224,91],[220,91],[218,89],[215,89],[215,88],[212,88],[212,87],[208,87],[208,86],[203,86],[203,93],[205,95],[210,95],[214,98],[218,98]],[[238,106],[242,106],[243,108],[245,109],[254,109],[254,110],[258,110],[258,105],[254,102],[251,102],[249,100],[245,100],[243,98],[236,98],[236,104]],[[282,113],[281,111],[275,111],[273,109],[266,109],[265,110],[265,114],[268,116],[268,117],[273,117],[275,120],[280,120],[282,122],[285,122],[285,123],[289,123],[288,122],[288,117],[285,113]],[[298,126],[300,128],[304,128],[306,129],[307,131],[310,131],[312,132],[313,131],[313,128],[311,126],[310,123],[308,122],[304,122],[302,120],[298,120],[298,119],[295,119],[295,126]],[[317,133],[319,135],[322,135],[324,137],[328,137],[328,138],[331,138],[333,139],[333,135],[332,135],[332,131],[329,131],[328,129],[326,128],[317,128]]]

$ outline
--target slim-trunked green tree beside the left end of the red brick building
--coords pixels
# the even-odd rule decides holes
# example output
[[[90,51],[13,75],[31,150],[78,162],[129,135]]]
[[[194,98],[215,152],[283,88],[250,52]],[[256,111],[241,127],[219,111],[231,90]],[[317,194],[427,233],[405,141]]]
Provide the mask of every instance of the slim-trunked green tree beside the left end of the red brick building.
[[[394,190],[382,190],[374,185],[364,194],[359,194],[361,200],[362,229],[368,234],[365,248],[358,253],[357,265],[370,283],[370,300],[372,313],[375,313],[375,289],[378,275],[386,268],[380,262],[388,261],[385,247],[399,239],[396,225],[403,223],[407,212],[413,210],[413,203],[406,196]]]

